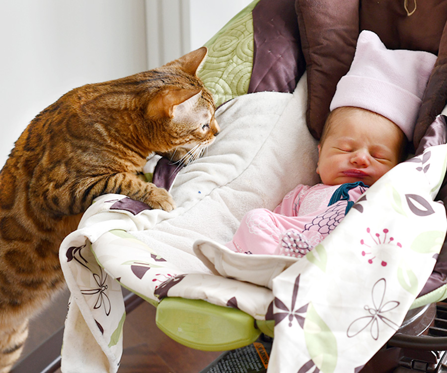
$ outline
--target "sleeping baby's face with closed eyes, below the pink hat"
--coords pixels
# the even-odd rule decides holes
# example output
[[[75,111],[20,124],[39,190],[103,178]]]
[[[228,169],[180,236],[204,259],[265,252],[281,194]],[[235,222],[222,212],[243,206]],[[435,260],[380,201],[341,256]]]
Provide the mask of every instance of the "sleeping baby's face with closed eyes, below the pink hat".
[[[329,121],[318,145],[317,174],[323,184],[372,186],[399,163],[404,135],[389,119],[357,107],[340,107]]]

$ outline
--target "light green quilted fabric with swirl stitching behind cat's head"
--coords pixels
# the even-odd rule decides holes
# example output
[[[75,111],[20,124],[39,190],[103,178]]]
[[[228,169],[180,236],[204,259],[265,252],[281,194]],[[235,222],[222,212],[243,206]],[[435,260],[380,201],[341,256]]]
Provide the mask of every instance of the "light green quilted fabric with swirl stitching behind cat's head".
[[[248,92],[253,68],[254,0],[236,14],[205,46],[208,55],[198,76],[213,93],[216,106]]]

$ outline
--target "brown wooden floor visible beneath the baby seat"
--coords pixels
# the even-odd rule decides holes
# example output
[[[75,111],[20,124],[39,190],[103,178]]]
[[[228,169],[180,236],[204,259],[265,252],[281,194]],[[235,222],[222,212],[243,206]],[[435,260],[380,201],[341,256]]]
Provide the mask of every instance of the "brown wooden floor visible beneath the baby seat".
[[[32,320],[22,357],[64,324],[68,298],[68,291],[61,293],[51,306]],[[171,340],[155,325],[155,307],[143,302],[126,317],[124,353],[118,373],[198,373],[220,354],[193,350]]]

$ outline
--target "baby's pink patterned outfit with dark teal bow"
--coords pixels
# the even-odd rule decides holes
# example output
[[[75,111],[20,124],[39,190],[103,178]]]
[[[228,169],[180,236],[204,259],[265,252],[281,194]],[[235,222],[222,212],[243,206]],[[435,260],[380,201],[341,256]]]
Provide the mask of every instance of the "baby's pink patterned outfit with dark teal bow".
[[[298,185],[273,211],[246,213],[225,246],[239,253],[302,257],[340,223],[366,188],[361,182]]]

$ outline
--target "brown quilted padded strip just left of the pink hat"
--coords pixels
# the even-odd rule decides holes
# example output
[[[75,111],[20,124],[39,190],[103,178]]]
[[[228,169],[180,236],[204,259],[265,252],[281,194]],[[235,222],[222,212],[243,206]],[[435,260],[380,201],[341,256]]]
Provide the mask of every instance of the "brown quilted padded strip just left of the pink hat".
[[[359,0],[296,0],[307,71],[309,130],[319,139],[340,78],[354,58],[359,35]]]

